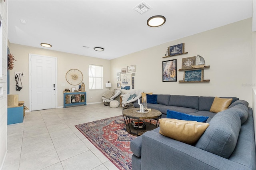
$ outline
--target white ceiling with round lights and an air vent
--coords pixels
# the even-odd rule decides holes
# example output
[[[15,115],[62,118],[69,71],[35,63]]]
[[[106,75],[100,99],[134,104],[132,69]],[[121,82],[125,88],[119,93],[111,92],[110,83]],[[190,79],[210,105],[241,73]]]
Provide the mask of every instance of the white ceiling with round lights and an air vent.
[[[10,43],[114,59],[252,17],[252,0],[7,0]],[[166,23],[147,26],[151,16]],[[26,20],[22,24],[20,19]],[[50,43],[51,48],[40,43]],[[181,42],[182,43],[182,42]],[[170,44],[175,45],[175,44]],[[85,48],[87,46],[89,48]],[[94,51],[103,47],[105,51]]]

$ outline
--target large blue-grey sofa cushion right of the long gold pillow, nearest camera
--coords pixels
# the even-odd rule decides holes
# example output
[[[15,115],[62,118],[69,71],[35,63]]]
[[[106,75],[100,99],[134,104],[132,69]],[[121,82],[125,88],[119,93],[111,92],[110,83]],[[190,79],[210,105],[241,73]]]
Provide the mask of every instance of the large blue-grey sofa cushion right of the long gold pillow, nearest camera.
[[[238,113],[224,110],[217,113],[209,124],[195,146],[228,159],[236,147],[241,127]]]

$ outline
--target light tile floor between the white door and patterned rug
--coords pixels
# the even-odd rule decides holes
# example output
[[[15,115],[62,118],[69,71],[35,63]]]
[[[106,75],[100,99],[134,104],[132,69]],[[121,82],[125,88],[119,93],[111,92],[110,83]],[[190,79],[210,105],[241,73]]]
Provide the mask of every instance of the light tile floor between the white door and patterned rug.
[[[75,125],[122,115],[103,103],[27,112],[7,126],[3,170],[116,170]]]

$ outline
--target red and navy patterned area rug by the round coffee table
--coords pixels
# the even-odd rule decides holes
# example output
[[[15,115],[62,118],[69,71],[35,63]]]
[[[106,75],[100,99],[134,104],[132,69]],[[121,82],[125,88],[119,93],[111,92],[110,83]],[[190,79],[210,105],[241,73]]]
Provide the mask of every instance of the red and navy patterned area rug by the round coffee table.
[[[132,169],[130,141],[136,136],[126,131],[123,116],[84,123],[75,127],[120,170]]]

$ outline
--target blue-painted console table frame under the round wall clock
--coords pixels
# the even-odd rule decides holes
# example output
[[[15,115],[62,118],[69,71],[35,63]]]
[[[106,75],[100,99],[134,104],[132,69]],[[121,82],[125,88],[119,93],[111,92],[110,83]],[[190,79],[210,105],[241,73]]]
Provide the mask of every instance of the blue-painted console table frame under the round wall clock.
[[[79,101],[72,102],[72,100],[71,100],[72,95],[79,95]],[[84,101],[82,101],[81,96],[84,96]],[[64,93],[63,102],[64,102],[63,103],[64,108],[66,108],[67,106],[86,105],[86,91],[66,92],[66,93]]]

